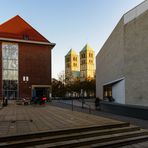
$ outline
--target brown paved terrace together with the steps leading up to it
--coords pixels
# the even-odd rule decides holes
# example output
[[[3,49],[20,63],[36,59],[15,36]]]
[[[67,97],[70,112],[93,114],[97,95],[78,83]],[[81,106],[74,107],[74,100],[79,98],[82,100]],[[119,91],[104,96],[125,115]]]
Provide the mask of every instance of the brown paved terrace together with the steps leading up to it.
[[[61,102],[62,105],[62,102]],[[146,147],[148,131],[128,122],[67,108],[17,105],[0,109],[0,147]],[[138,143],[138,144],[136,144]],[[126,146],[129,145],[129,146]]]

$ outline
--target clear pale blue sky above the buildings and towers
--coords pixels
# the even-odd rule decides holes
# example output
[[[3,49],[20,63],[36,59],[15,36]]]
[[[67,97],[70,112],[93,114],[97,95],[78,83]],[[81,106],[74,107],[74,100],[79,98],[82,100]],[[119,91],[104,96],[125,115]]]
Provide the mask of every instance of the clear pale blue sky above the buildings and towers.
[[[144,0],[1,0],[0,24],[20,15],[50,42],[52,77],[65,69],[64,57],[89,44],[97,54],[120,18]]]

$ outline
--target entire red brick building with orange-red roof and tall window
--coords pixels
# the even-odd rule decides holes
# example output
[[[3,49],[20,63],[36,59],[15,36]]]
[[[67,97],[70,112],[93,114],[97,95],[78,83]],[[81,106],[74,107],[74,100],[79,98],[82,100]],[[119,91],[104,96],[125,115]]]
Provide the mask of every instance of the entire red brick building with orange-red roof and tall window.
[[[0,97],[48,97],[54,46],[18,15],[0,24]]]

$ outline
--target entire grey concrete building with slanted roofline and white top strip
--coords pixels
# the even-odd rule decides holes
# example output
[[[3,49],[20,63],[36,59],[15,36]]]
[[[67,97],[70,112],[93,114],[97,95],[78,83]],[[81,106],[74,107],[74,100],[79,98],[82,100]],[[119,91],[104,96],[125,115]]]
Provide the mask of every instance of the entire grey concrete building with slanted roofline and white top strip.
[[[114,88],[124,80],[125,104],[148,106],[147,26],[148,1],[121,18],[96,57],[97,97],[105,97],[105,86]],[[123,99],[118,103],[123,103]]]

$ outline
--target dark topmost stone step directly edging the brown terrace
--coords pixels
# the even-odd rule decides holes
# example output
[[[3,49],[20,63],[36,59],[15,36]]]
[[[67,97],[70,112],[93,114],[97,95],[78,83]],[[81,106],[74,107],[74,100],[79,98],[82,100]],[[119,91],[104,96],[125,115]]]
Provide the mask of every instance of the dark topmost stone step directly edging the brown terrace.
[[[109,124],[109,125],[102,125],[102,126],[87,126],[87,127],[78,127],[78,128],[50,130],[50,131],[46,131],[46,132],[45,131],[34,132],[34,133],[22,134],[22,135],[13,135],[13,136],[10,135],[10,136],[0,137],[0,142],[19,141],[19,140],[22,140],[22,139],[25,140],[25,139],[51,137],[51,136],[71,134],[71,133],[80,133],[80,132],[87,132],[87,131],[121,128],[121,127],[128,127],[129,125],[130,125],[129,123],[122,122],[122,123],[118,123],[118,124]]]

